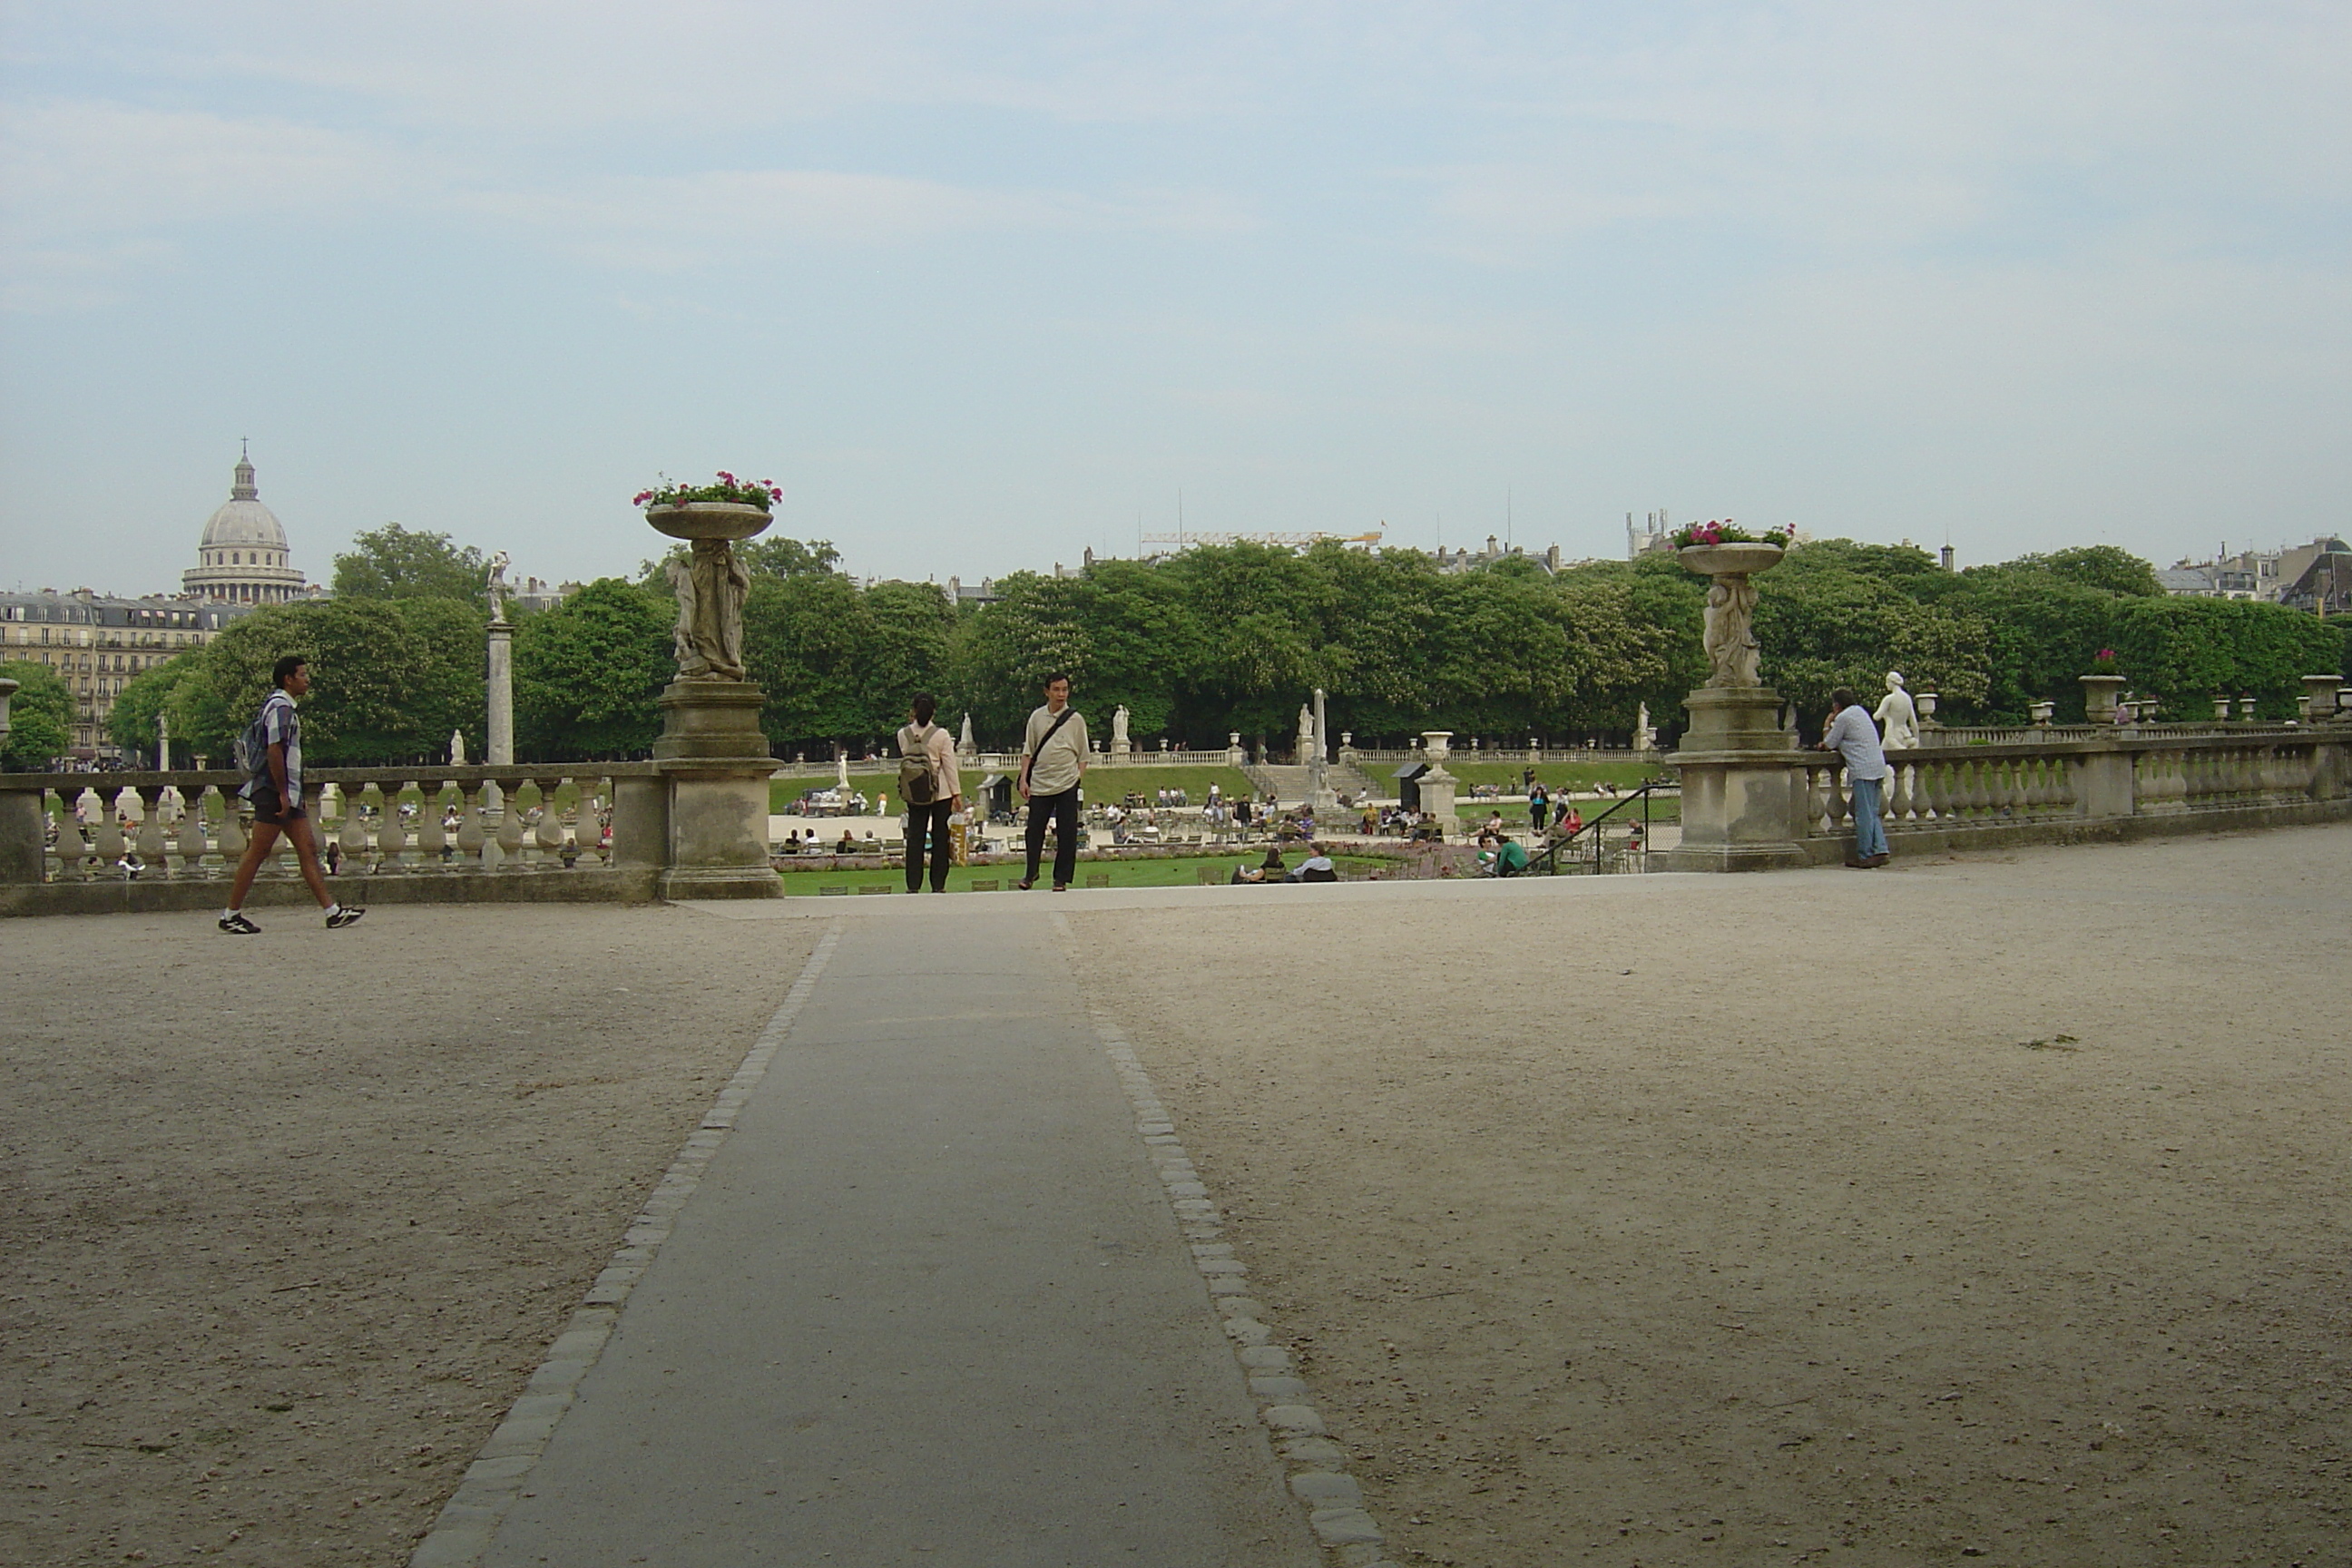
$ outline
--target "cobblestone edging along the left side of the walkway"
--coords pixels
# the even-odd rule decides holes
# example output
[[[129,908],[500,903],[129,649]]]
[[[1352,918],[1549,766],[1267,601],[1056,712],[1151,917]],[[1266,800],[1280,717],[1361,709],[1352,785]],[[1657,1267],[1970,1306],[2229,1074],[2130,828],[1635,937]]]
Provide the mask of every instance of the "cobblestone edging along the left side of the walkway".
[[[524,1476],[539,1465],[539,1455],[555,1434],[555,1422],[572,1408],[572,1394],[579,1389],[581,1378],[604,1354],[604,1342],[621,1319],[628,1293],[644,1276],[644,1269],[652,1267],[661,1244],[670,1239],[677,1211],[701,1187],[703,1171],[710,1166],[713,1154],[720,1152],[720,1145],[727,1143],[727,1133],[734,1128],[743,1103],[750,1100],[760,1079],[767,1077],[767,1065],[793,1030],[800,1006],[816,990],[816,976],[826,971],[826,961],[840,940],[842,922],[833,922],[833,929],[826,931],[823,940],[816,943],[816,952],[802,966],[800,978],[793,980],[793,990],[783,994],[783,1004],[743,1056],[743,1065],[727,1079],[717,1100],[703,1112],[701,1126],[687,1138],[687,1147],[670,1161],[661,1185],[644,1199],[637,1218],[628,1222],[621,1248],[604,1265],[604,1272],[595,1276],[595,1284],[588,1286],[588,1295],[572,1314],[572,1321],[564,1324],[564,1331],[555,1335],[555,1345],[548,1347],[546,1361],[539,1363],[529,1385],[508,1406],[506,1420],[482,1443],[473,1465],[466,1467],[466,1479],[449,1502],[442,1505],[433,1528],[416,1542],[416,1552],[409,1554],[409,1568],[480,1566],[482,1554],[489,1549],[489,1537],[515,1505]]]

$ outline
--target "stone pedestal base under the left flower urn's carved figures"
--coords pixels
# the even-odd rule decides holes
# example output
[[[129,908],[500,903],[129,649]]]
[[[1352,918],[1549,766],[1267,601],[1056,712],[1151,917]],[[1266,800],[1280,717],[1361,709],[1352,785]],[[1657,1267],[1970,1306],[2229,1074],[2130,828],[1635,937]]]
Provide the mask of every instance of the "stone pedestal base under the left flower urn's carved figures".
[[[661,898],[783,896],[767,858],[767,780],[776,759],[760,731],[762,701],[760,686],[731,679],[675,679],[661,693],[654,743],[668,783],[668,844],[654,889]]]

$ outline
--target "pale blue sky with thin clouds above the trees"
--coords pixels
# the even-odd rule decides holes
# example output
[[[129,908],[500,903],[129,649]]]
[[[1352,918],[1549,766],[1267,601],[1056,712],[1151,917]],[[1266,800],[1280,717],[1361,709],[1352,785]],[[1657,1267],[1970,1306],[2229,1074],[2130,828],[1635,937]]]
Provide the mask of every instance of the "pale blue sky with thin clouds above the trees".
[[[2343,531],[2340,0],[0,0],[0,585]]]

